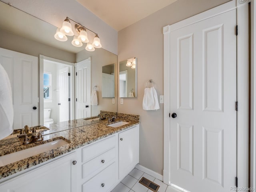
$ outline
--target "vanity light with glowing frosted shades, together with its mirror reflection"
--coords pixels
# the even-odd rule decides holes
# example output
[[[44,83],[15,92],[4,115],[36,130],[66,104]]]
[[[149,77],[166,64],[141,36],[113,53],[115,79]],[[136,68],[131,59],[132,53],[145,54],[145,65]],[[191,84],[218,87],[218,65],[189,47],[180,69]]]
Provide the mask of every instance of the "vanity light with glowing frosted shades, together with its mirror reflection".
[[[74,32],[72,30],[70,21],[75,23],[75,30],[79,34],[79,36],[74,36]],[[86,30],[89,30],[90,32],[95,34],[93,43],[89,42]],[[95,48],[102,47],[98,34],[96,34],[92,30],[82,26],[81,24],[75,22],[74,20],[72,20],[68,17],[66,17],[66,19],[64,20],[64,22],[62,24],[62,28],[58,28],[56,30],[56,34],[54,35],[54,38],[56,38],[59,41],[66,41],[66,40],[68,40],[66,35],[74,36],[74,38],[72,40],[72,45],[74,45],[76,47],[81,47],[83,45],[82,42],[87,43],[87,46],[85,48],[87,51],[94,51]]]

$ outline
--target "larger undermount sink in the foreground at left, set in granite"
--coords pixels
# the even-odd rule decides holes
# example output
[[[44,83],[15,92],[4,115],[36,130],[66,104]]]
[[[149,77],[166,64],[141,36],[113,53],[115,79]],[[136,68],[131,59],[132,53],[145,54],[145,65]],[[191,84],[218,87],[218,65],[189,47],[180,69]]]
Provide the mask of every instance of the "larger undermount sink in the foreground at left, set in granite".
[[[66,144],[69,144],[69,143],[63,139],[59,139],[59,140],[44,143],[38,146],[34,146],[31,148],[27,148],[24,150],[20,150],[14,153],[10,153],[4,156],[0,156],[0,167],[40,154],[42,152],[46,152],[46,151],[64,146]]]

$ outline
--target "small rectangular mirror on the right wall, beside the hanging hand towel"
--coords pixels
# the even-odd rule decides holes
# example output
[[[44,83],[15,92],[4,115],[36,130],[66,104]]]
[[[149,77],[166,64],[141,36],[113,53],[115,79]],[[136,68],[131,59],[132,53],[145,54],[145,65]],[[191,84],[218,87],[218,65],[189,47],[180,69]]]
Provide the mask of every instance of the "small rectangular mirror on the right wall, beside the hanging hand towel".
[[[137,97],[137,58],[119,62],[119,97]]]

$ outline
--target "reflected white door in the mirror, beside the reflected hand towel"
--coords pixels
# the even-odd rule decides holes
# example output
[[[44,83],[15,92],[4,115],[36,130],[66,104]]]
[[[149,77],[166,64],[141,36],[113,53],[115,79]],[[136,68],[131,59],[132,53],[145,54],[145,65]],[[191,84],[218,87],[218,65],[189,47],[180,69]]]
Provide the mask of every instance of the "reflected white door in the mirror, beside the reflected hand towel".
[[[76,119],[91,116],[91,60],[76,64]]]

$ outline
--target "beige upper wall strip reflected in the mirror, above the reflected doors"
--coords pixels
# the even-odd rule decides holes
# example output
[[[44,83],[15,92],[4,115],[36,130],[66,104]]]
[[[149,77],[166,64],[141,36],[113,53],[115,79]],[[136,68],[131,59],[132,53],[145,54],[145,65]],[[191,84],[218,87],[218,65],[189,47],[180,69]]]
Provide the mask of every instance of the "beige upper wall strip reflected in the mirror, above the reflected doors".
[[[60,50],[0,29],[0,47],[39,58],[39,55],[68,62],[76,62],[76,54]]]

